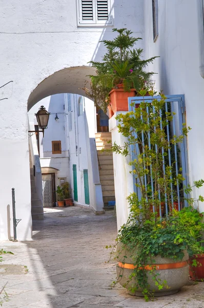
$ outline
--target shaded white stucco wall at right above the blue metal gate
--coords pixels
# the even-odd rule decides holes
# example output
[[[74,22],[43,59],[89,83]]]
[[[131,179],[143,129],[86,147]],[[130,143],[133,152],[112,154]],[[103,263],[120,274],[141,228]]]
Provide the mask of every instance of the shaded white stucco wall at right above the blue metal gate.
[[[156,88],[165,94],[185,94],[190,182],[203,178],[204,80],[199,72],[199,1],[158,0],[158,38],[153,43],[151,0],[145,0],[145,57],[159,55],[150,69]],[[203,24],[202,24],[203,27]],[[193,197],[204,195],[204,188],[193,191]],[[204,205],[199,205],[204,210]]]

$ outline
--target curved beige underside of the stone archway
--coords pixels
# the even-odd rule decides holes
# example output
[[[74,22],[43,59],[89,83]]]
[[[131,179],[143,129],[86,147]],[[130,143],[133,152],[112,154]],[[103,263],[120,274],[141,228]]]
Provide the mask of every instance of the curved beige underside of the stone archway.
[[[58,93],[75,93],[86,96],[82,89],[89,81],[88,75],[94,74],[91,66],[64,68],[48,76],[31,92],[28,98],[28,111],[40,100]]]

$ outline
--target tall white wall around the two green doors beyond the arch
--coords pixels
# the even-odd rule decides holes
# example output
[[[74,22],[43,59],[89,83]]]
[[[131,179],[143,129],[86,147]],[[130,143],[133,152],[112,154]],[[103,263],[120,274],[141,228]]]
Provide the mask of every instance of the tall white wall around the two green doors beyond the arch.
[[[68,94],[69,95],[69,94]],[[76,204],[91,206],[95,208],[95,188],[92,176],[92,161],[91,152],[89,146],[90,136],[95,137],[95,107],[94,103],[81,97],[84,102],[84,112],[78,114],[78,101],[80,95],[71,94],[71,122],[72,127],[69,128],[69,117],[67,115],[66,129],[67,129],[67,143],[70,155],[70,181],[72,189],[72,198],[74,200],[73,194],[73,164],[76,165],[77,171],[77,195],[78,201],[74,201]],[[67,101],[67,94],[65,94],[65,101]],[[67,102],[65,104],[66,113],[68,113]],[[69,130],[70,129],[70,130]],[[84,191],[84,169],[88,170],[89,178],[89,198],[90,204],[85,202],[85,191]],[[95,208],[96,209],[96,208]]]

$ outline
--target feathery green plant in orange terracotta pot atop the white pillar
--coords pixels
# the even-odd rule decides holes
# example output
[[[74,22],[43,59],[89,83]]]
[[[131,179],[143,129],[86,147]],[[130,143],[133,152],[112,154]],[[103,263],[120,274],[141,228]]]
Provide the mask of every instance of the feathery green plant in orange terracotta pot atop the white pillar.
[[[128,111],[128,97],[136,95],[136,89],[146,87],[153,72],[145,68],[156,58],[141,59],[143,50],[134,48],[140,37],[133,37],[130,30],[113,29],[117,36],[112,41],[101,41],[107,48],[103,62],[91,61],[96,69],[96,75],[89,75],[90,88],[85,85],[86,94],[94,103],[107,111],[110,117],[116,111]]]

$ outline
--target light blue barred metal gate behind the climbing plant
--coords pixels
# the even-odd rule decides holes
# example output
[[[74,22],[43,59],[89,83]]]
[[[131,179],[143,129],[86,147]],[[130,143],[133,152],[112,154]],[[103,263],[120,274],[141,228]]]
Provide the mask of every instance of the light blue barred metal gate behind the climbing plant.
[[[139,104],[141,102],[145,102],[147,104],[147,114],[149,118],[149,114],[151,114],[152,117],[154,117],[155,109],[154,106],[152,106],[151,102],[153,99],[160,100],[161,97],[135,97],[135,98],[129,98],[129,111],[133,111],[133,108],[138,108]],[[132,103],[134,103],[134,107],[132,106]],[[175,136],[180,136],[182,134],[182,128],[185,124],[185,102],[184,102],[184,95],[169,95],[167,96],[167,100],[165,103],[165,106],[163,109],[159,110],[159,118],[164,119],[166,117],[166,112],[171,112],[172,115],[172,121],[167,120],[167,125],[164,128],[166,140],[168,141],[168,144],[170,144],[170,139],[175,138]],[[142,114],[141,114],[141,121],[142,120]],[[162,120],[160,120],[160,129],[162,129]],[[135,132],[135,138],[137,138],[137,133]],[[150,133],[148,133],[148,136],[142,132],[141,133],[141,140],[142,140],[142,146],[145,144],[148,145],[149,149],[151,149],[151,138]],[[157,147],[155,146],[155,151],[157,151]],[[140,153],[140,149],[138,144],[135,146],[131,146],[131,155],[132,160],[137,159],[138,155]],[[173,204],[174,208],[180,210],[183,206],[188,206],[187,196],[186,192],[183,190],[184,187],[187,187],[188,184],[188,161],[187,161],[187,140],[186,137],[183,136],[183,142],[180,142],[178,144],[172,145],[169,147],[168,152],[165,153],[164,148],[161,148],[162,153],[162,169],[165,175],[166,167],[170,166],[171,168],[174,168],[174,174],[175,178],[177,178],[178,174],[182,174],[182,177],[185,179],[180,183],[178,180],[171,183],[171,204]],[[173,167],[172,167],[173,166]],[[145,166],[144,166],[145,168]],[[172,178],[171,178],[172,179]],[[151,191],[154,195],[154,180],[151,173],[151,166],[150,166],[150,174],[147,176],[144,176],[142,179],[144,182],[144,185],[147,187],[147,185],[151,185]],[[135,177],[135,183],[137,184],[137,178]],[[138,198],[141,198],[140,190],[139,188],[134,185],[134,190],[138,196]],[[181,193],[182,191],[182,193]],[[160,191],[158,191],[158,196],[160,203],[162,204],[162,201],[164,201],[164,207],[165,207],[165,214],[168,215],[168,203],[167,203],[167,195],[164,194],[163,200],[161,200]],[[176,201],[175,201],[176,200]],[[162,205],[160,205],[160,216],[162,216]],[[153,207],[154,211],[154,207]]]

